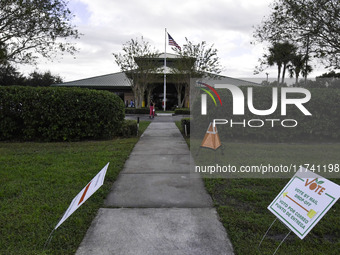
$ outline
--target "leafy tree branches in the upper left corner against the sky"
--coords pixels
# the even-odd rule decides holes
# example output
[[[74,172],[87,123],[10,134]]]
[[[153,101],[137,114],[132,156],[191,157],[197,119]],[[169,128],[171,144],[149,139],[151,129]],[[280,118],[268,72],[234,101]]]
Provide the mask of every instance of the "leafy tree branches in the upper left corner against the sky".
[[[0,64],[34,63],[58,51],[73,54],[76,48],[66,39],[79,34],[71,19],[64,0],[0,1]]]

